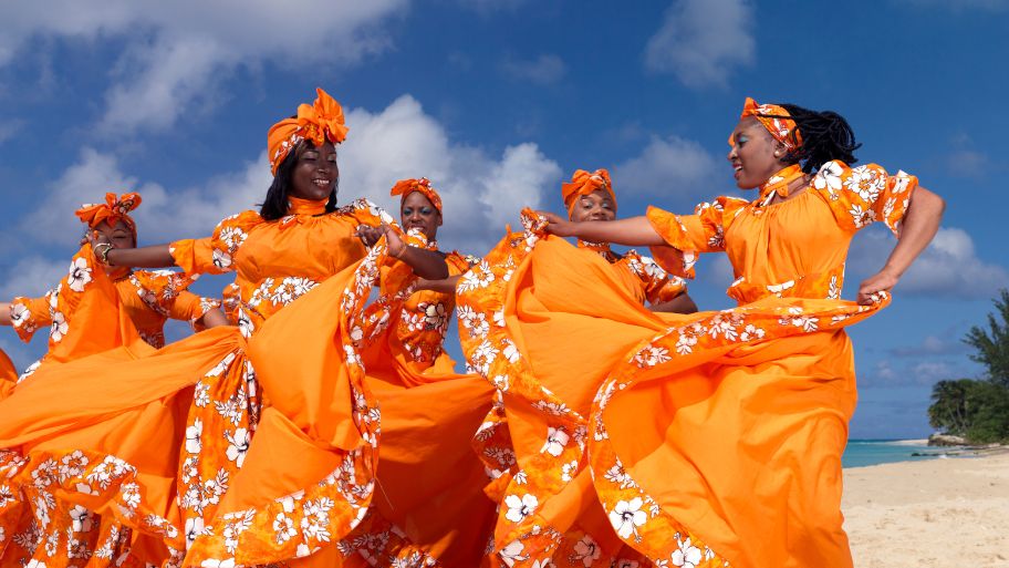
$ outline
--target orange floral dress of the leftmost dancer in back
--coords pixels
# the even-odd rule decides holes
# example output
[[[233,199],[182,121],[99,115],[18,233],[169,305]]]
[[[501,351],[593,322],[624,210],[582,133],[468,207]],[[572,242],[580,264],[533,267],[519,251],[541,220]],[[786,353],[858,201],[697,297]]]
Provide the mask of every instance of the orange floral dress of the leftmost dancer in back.
[[[40,328],[49,329],[50,352],[32,364],[25,371],[25,376],[34,372],[43,361],[55,359],[65,362],[82,355],[79,349],[67,350],[60,345],[67,327],[73,323],[74,318],[81,316],[70,313],[65,309],[58,310],[55,298],[60,290],[70,289],[70,286],[83,279],[85,273],[91,278],[91,268],[87,268],[89,272],[83,271],[87,266],[83,257],[77,257],[71,264],[69,277],[64,279],[66,282],[61,282],[40,298],[18,297],[11,301],[11,323],[22,341],[31,341]],[[200,318],[220,306],[217,300],[201,298],[186,290],[191,280],[177,272],[127,269],[117,272],[111,278],[122,309],[133,322],[141,339],[156,349],[165,347],[166,321],[188,321],[196,329]]]

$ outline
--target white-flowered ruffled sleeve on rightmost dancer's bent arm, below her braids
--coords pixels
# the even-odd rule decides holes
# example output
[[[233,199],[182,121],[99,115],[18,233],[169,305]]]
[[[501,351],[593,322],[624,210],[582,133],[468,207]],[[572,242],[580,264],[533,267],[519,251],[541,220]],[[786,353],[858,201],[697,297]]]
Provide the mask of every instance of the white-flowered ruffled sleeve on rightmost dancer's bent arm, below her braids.
[[[883,221],[897,236],[917,186],[918,178],[904,172],[890,175],[876,164],[852,168],[839,161],[823,164],[813,179],[841,228],[854,233]]]

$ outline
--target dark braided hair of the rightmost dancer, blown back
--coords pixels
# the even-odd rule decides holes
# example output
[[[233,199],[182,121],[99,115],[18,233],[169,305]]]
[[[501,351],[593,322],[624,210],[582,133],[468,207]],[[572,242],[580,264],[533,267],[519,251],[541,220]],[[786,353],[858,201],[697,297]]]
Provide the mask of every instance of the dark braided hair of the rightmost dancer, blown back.
[[[810,111],[794,104],[780,104],[790,116],[761,114],[768,118],[791,118],[795,121],[802,145],[789,152],[782,159],[787,164],[802,164],[807,174],[820,169],[820,166],[840,159],[847,165],[859,162],[852,154],[862,144],[855,143],[855,133],[847,121],[833,111]]]

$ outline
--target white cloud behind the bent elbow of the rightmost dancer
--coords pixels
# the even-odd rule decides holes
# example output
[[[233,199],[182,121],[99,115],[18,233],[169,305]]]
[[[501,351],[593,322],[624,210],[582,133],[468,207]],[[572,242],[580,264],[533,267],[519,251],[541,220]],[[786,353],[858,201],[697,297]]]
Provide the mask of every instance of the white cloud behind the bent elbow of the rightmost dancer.
[[[883,268],[895,245],[888,231],[866,230],[857,235],[849,256],[849,282],[856,287],[859,280]],[[943,227],[897,283],[895,292],[985,299],[991,298],[1006,282],[1009,271],[978,258],[967,231]]]

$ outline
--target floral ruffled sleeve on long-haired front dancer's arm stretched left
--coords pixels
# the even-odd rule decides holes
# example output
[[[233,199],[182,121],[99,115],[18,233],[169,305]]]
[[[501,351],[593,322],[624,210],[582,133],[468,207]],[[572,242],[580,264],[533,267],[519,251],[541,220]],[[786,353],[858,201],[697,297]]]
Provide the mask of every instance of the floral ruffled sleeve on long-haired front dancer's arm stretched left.
[[[202,239],[176,240],[168,247],[176,266],[187,275],[221,275],[235,270],[235,254],[249,237],[249,231],[263,223],[249,210],[220,221],[214,235]]]

